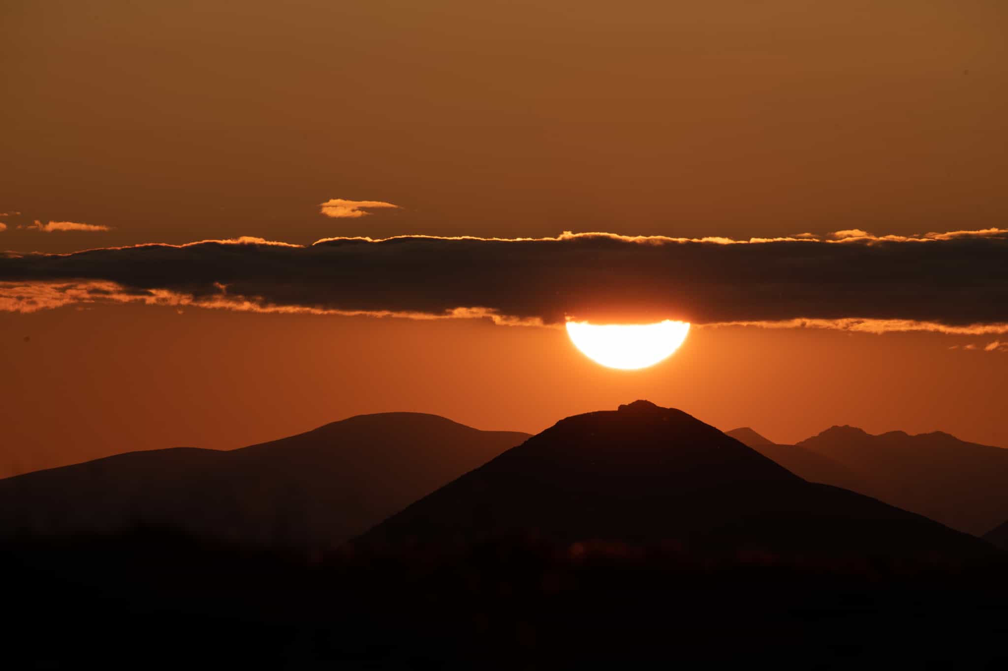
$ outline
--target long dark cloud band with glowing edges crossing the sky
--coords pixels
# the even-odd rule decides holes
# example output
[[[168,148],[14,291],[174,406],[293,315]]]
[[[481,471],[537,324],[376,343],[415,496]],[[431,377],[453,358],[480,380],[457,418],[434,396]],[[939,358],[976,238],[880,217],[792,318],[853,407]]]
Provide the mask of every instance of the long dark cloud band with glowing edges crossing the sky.
[[[815,240],[260,238],[0,254],[0,309],[133,301],[562,324],[1008,333],[1008,231]],[[95,285],[94,283],[98,283]]]

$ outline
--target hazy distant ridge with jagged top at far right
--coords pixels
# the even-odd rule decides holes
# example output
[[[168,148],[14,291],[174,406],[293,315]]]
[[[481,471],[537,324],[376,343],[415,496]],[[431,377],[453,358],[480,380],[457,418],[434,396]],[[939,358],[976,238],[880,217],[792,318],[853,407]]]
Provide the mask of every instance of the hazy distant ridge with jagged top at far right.
[[[1008,519],[1008,450],[941,432],[872,436],[854,427],[795,447],[846,466],[862,481],[858,491],[961,531],[981,535]]]

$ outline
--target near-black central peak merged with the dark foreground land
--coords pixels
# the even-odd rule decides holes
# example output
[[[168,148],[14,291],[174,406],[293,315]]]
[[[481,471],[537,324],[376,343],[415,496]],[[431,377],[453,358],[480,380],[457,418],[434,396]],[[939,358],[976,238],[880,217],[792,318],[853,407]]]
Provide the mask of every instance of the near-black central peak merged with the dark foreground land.
[[[13,668],[1003,668],[1008,561],[637,401],[336,548],[8,535]]]

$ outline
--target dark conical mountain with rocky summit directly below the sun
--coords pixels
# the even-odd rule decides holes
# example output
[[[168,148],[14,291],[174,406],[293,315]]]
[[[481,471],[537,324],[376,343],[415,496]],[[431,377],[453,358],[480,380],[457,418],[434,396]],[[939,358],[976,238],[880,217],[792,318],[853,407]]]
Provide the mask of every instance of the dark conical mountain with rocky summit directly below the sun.
[[[532,535],[834,555],[976,556],[987,543],[806,482],[647,401],[568,417],[358,539],[364,547]]]

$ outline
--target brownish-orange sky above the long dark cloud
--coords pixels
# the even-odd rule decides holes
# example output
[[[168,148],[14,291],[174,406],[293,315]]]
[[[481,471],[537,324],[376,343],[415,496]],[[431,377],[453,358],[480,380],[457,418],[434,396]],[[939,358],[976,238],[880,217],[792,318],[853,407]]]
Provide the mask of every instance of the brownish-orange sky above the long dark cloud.
[[[9,0],[0,248],[1001,225],[1001,0]],[[333,219],[319,203],[401,209]],[[17,229],[35,219],[109,232]]]

